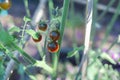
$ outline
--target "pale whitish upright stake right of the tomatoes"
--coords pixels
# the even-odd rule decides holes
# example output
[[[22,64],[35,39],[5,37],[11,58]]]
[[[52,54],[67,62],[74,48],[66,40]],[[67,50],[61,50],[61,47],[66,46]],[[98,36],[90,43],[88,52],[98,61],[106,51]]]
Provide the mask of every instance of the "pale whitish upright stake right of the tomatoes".
[[[89,42],[90,42],[90,33],[91,33],[91,25],[92,25],[92,14],[93,14],[93,0],[87,0],[87,5],[86,5],[86,30],[85,30],[85,42],[84,42],[84,53],[82,60],[79,65],[79,70],[76,75],[75,80],[80,80],[78,79],[79,74],[81,72],[82,78],[81,80],[86,80],[86,69],[87,69],[87,54],[89,50]]]

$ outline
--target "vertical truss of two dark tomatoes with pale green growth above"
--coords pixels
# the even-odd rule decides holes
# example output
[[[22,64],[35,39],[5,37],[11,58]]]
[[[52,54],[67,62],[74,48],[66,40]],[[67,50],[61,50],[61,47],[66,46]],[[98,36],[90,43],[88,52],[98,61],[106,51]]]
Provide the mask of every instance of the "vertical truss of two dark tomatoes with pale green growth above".
[[[59,50],[59,44],[58,40],[60,39],[60,21],[59,21],[59,16],[61,16],[61,11],[60,9],[56,8],[52,11],[52,15],[54,17],[54,22],[52,23],[53,25],[52,30],[49,33],[49,38],[50,42],[47,44],[48,51],[51,53],[56,53]]]

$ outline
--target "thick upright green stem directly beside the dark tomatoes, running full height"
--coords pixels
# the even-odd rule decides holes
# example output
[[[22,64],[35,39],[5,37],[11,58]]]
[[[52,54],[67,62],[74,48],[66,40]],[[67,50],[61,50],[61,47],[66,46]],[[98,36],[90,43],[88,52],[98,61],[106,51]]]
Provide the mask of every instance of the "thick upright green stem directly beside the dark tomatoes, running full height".
[[[66,22],[66,19],[67,19],[69,3],[70,3],[70,0],[64,0],[64,3],[63,3],[63,13],[62,13],[62,19],[61,19],[61,25],[60,25],[60,40],[58,41],[58,43],[60,45],[60,48],[61,48],[62,39],[63,39],[63,35],[64,35],[65,22]],[[56,80],[56,77],[57,77],[59,54],[60,54],[60,49],[57,53],[53,54],[52,80]]]

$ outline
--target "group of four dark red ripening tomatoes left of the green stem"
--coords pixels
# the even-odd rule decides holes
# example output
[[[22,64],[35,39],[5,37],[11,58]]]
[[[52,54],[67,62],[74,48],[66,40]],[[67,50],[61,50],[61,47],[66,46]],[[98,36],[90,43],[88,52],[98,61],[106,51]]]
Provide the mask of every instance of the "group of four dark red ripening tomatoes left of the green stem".
[[[37,25],[37,27],[41,31],[46,31],[48,26],[45,22],[40,22]],[[58,40],[60,38],[60,33],[57,30],[57,28],[56,28],[56,30],[52,30],[49,33],[49,38],[50,38],[50,42],[48,42],[48,44],[47,44],[47,49],[49,52],[55,53],[59,50]],[[39,32],[36,32],[34,34],[34,36],[32,36],[32,39],[34,42],[40,42],[42,40],[42,35]]]

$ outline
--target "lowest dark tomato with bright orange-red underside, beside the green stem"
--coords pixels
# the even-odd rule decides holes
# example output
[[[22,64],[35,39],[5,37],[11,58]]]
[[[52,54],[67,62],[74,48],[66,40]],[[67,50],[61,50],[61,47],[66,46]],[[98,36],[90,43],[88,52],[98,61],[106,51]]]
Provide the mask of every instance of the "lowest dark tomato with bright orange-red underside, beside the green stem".
[[[55,41],[49,42],[47,45],[47,49],[51,53],[55,53],[59,50],[59,44]]]

